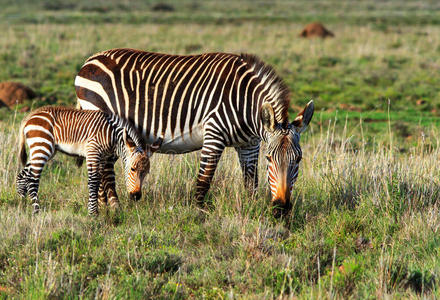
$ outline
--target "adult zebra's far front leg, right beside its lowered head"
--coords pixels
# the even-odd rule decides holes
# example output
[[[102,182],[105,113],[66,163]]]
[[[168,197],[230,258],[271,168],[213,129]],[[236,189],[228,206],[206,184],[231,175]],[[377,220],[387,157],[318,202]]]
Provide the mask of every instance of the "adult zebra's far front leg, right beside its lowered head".
[[[258,155],[260,143],[245,147],[236,147],[244,184],[253,196],[258,188]]]

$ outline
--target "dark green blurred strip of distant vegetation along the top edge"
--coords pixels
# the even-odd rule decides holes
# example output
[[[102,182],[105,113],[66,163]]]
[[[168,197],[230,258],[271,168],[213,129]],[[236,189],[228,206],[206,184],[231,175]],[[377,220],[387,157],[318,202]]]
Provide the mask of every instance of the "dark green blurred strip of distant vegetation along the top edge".
[[[219,23],[321,22],[365,25],[439,24],[440,3],[379,0],[3,0],[2,16],[14,23]],[[165,12],[166,14],[162,14]]]

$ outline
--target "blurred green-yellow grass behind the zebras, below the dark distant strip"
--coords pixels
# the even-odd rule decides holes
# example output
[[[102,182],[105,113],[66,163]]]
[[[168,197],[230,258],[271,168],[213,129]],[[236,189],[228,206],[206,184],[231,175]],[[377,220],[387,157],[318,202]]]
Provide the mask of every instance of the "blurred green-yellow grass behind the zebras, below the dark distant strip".
[[[271,63],[292,91],[292,113],[308,99],[318,111],[386,112],[413,127],[414,118],[440,114],[440,30],[437,26],[328,25],[337,37],[304,40],[299,23],[241,24],[1,24],[0,80],[30,85],[40,104],[74,103],[73,78],[91,54],[113,47],[169,53],[257,53]],[[264,37],[264,38],[263,38]],[[417,101],[421,100],[421,105]],[[399,116],[394,118],[398,112]],[[7,114],[7,113],[6,113]],[[345,112],[344,112],[345,114]],[[0,116],[5,115],[0,111]],[[341,114],[339,114],[341,116]],[[349,112],[358,123],[361,114]],[[328,120],[333,113],[326,113]],[[377,117],[376,117],[377,119]],[[386,120],[383,117],[382,121]],[[426,122],[425,122],[426,125]],[[386,129],[386,122],[370,127]],[[411,128],[411,135],[415,134]],[[376,133],[377,131],[374,131]]]

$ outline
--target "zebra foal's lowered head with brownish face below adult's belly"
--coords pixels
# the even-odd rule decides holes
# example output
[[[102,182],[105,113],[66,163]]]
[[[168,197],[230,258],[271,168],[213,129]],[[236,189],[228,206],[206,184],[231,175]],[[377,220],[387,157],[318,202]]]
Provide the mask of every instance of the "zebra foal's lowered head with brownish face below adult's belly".
[[[145,175],[150,172],[150,157],[160,148],[162,139],[158,139],[152,145],[140,146],[139,143],[123,131],[125,151],[123,151],[123,163],[125,169],[125,181],[131,200],[139,200],[142,196],[142,183]]]

